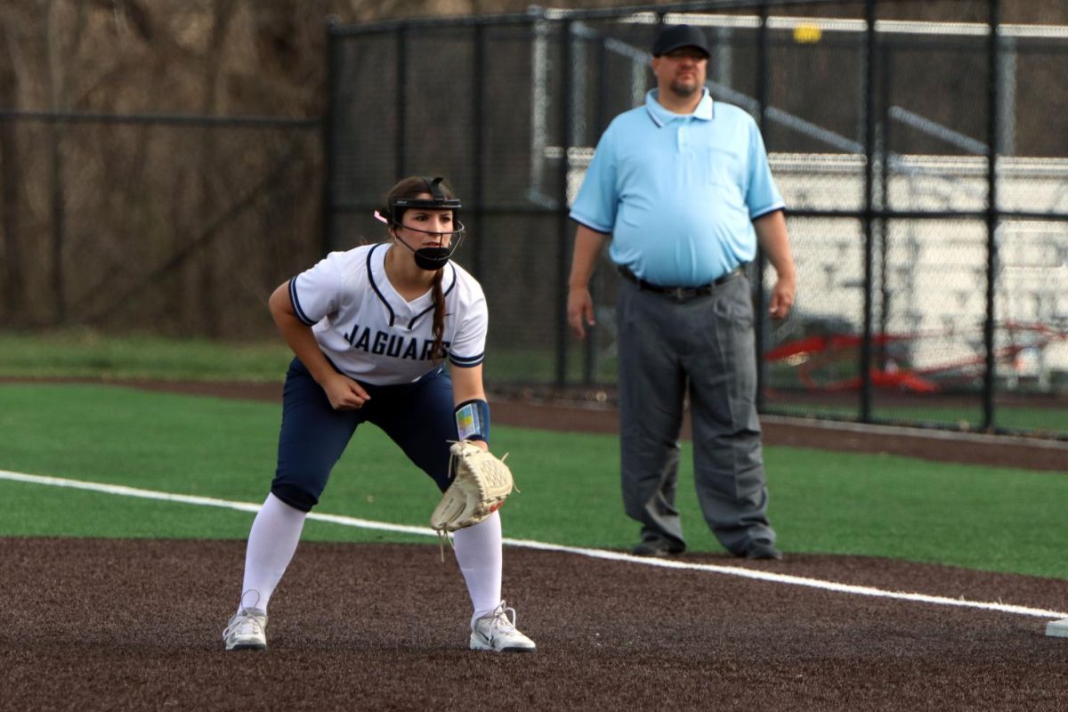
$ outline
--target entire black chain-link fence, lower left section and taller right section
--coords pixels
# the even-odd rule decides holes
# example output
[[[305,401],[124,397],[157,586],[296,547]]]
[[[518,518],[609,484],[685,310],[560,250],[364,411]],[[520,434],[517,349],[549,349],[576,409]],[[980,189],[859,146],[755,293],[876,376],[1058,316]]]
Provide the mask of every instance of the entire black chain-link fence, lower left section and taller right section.
[[[761,325],[763,410],[1065,437],[1068,27],[1015,6],[335,26],[321,122],[0,111],[0,326],[273,338],[274,286],[383,239],[382,193],[442,174],[489,296],[489,385],[611,399],[616,276],[602,262],[597,328],[575,341],[567,206],[608,122],[653,86],[658,25],[686,21],[712,43],[713,97],[759,121],[788,207],[800,287]],[[774,274],[751,272],[764,313]]]

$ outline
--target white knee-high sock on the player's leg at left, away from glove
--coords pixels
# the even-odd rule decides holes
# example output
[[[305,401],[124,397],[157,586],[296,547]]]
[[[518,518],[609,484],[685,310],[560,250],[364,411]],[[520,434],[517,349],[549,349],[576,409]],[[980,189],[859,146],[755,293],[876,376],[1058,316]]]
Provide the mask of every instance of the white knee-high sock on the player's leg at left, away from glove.
[[[267,613],[267,602],[297,551],[307,517],[308,512],[290,507],[273,494],[267,495],[249,532],[238,610],[249,607]]]

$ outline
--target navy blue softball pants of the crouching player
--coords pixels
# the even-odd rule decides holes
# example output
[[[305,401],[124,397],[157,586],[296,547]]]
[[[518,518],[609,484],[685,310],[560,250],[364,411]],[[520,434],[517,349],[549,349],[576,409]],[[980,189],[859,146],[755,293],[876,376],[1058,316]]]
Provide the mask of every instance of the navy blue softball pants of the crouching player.
[[[360,385],[371,396],[363,408],[334,410],[304,364],[297,359],[289,364],[270,488],[279,500],[311,511],[361,423],[381,428],[442,492],[449,487],[449,441],[457,437],[453,381],[444,367],[413,383]]]

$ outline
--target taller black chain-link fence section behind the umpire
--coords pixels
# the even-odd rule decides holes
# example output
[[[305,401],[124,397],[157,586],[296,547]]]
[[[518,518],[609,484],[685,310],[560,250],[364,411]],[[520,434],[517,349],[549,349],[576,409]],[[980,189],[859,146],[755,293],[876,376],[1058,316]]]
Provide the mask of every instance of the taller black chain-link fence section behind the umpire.
[[[611,398],[616,276],[606,257],[594,337],[574,341],[567,206],[608,122],[653,86],[659,23],[698,25],[713,98],[761,125],[799,269],[794,314],[760,330],[764,411],[1064,434],[1068,27],[925,4],[335,27],[326,243],[380,239],[397,176],[447,176],[472,233],[459,259],[490,297],[490,383]],[[752,273],[764,313],[774,273]]]

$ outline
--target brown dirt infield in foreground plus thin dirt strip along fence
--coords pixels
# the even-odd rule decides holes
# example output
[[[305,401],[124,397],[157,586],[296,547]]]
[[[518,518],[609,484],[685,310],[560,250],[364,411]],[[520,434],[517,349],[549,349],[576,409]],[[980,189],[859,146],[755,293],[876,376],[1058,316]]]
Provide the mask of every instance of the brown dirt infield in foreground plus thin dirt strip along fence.
[[[607,410],[493,412],[614,429]],[[925,456],[827,430],[766,424],[769,443]],[[1031,449],[1012,464],[1064,469]],[[466,649],[467,597],[435,544],[317,542],[271,601],[270,650],[226,653],[242,558],[239,541],[0,539],[0,710],[1068,710],[1068,639],[1041,616],[520,548],[505,551],[505,595],[534,654]],[[680,560],[1068,610],[1065,580],[847,556]]]

